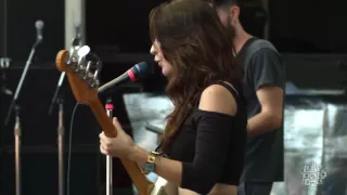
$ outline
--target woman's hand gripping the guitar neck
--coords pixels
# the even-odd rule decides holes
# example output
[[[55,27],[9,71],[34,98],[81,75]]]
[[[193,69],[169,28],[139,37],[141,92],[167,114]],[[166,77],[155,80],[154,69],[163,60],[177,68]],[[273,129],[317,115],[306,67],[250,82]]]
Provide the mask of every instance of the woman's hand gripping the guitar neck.
[[[100,133],[100,151],[104,155],[111,155],[118,158],[129,158],[129,155],[136,151],[136,143],[123,130],[116,118],[113,118],[113,125],[117,130],[116,138],[107,138],[104,132]]]

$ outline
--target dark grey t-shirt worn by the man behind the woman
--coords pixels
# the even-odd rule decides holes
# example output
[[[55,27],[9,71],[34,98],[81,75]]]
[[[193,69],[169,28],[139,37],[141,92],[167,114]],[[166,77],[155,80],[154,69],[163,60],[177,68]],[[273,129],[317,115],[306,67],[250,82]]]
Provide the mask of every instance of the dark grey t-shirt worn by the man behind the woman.
[[[285,73],[279,53],[270,48],[259,49],[245,64],[246,53],[256,38],[249,39],[237,54],[245,68],[244,94],[247,99],[248,118],[261,110],[256,91],[262,86],[284,90]],[[244,171],[241,182],[283,181],[283,121],[281,129],[248,138]]]

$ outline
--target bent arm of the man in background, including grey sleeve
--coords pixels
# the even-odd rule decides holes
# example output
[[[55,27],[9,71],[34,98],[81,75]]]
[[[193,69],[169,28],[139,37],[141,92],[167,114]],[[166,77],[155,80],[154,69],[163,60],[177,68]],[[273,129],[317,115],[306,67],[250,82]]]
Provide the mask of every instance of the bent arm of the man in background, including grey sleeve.
[[[282,126],[285,74],[279,56],[270,49],[258,51],[250,68],[253,87],[261,106],[260,113],[248,119],[248,135],[254,136]]]

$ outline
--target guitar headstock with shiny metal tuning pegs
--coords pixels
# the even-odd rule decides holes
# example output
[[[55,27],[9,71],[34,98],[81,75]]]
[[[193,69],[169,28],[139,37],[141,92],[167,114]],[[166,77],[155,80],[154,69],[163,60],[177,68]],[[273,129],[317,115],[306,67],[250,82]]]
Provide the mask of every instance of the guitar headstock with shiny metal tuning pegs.
[[[79,104],[98,100],[99,75],[102,68],[100,58],[90,52],[88,46],[62,50],[55,58],[57,69],[66,73],[70,88]]]

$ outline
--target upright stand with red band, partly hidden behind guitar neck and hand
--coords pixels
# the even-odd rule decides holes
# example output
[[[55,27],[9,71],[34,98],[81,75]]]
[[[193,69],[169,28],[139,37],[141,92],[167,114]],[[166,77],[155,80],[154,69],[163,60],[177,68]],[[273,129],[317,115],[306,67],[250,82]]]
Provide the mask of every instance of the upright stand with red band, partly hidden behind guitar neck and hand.
[[[107,99],[105,108],[108,117],[112,119],[113,103],[111,98]],[[106,156],[106,195],[113,195],[113,181],[112,181],[113,170],[112,169],[113,169],[112,156],[107,155]]]

